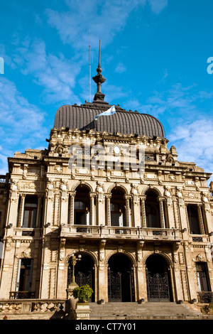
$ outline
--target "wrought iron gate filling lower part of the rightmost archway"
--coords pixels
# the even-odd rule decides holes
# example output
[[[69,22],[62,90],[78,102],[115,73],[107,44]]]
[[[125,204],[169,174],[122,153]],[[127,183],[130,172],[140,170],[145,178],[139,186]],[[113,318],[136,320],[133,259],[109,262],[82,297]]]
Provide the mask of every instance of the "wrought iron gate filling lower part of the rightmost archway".
[[[148,301],[170,301],[168,274],[146,274]]]

